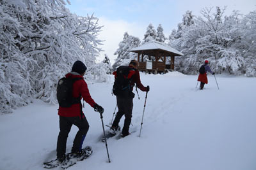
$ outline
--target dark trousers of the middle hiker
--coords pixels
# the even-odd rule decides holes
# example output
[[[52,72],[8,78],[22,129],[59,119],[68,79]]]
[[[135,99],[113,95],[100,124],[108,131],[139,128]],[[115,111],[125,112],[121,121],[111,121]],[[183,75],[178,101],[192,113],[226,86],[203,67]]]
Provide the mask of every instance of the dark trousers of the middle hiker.
[[[129,127],[132,121],[132,108],[133,108],[132,99],[133,97],[116,96],[118,112],[116,113],[116,117],[112,126],[117,127],[120,122],[120,119],[124,115],[125,120],[124,120],[124,127],[122,129],[123,134],[129,134]]]

